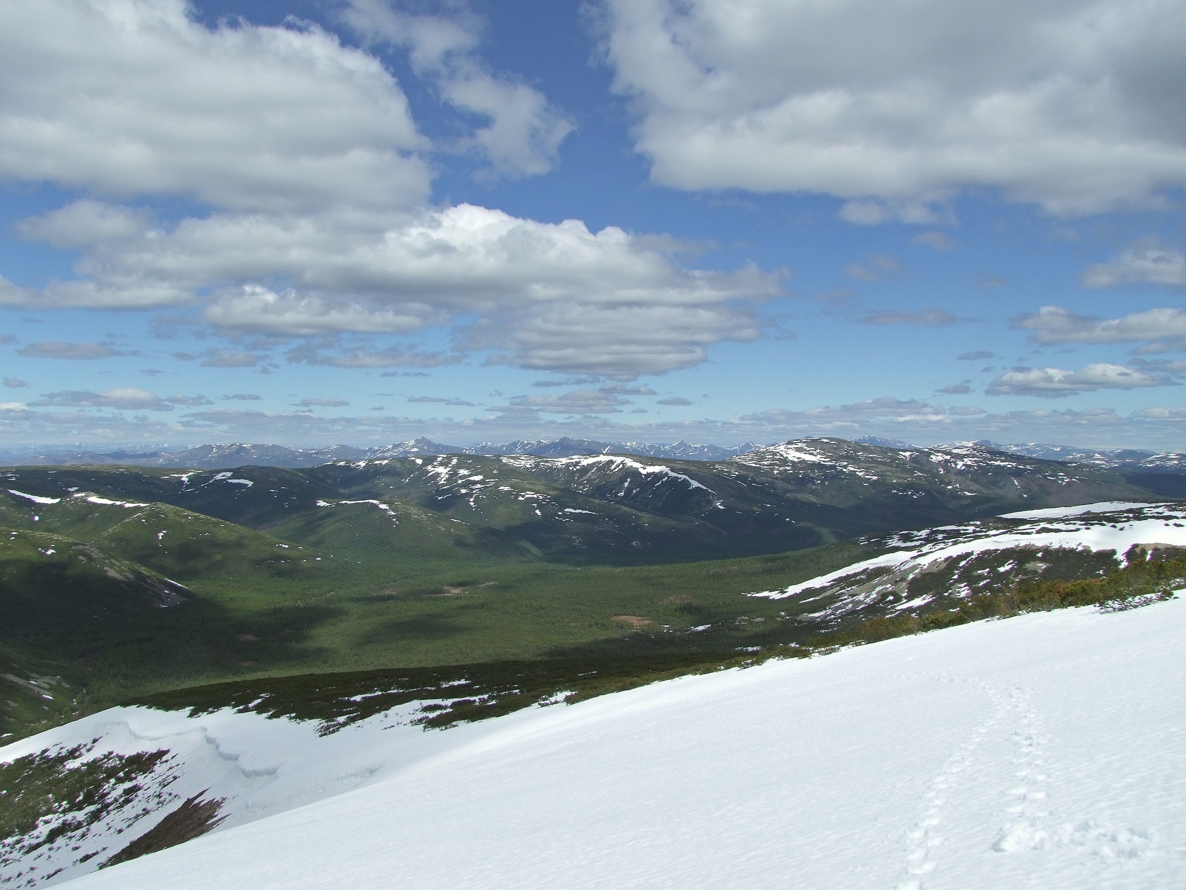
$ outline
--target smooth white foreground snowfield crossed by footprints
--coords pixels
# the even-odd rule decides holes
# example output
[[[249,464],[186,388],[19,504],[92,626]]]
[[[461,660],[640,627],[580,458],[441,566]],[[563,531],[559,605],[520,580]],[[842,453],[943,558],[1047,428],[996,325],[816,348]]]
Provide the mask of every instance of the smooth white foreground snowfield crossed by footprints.
[[[1184,636],[1064,610],[523,711],[70,885],[1182,886]]]

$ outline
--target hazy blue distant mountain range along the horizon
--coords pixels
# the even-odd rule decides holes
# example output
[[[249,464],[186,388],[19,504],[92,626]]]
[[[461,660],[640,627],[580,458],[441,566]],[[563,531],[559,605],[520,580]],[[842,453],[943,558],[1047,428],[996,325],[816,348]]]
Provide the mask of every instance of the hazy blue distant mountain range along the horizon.
[[[810,441],[803,439],[799,441]],[[918,451],[898,439],[866,436],[854,440],[859,445],[872,445],[897,451]],[[937,450],[952,450],[975,445],[1007,454],[1084,464],[1128,472],[1186,473],[1186,453],[1139,451],[1134,449],[1092,450],[1069,445],[1041,443],[1002,444],[989,439],[956,441],[936,445]],[[704,445],[691,441],[655,444],[642,441],[600,441],[597,439],[516,439],[508,443],[483,443],[480,445],[447,445],[423,437],[408,441],[359,449],[350,445],[332,445],[324,449],[288,449],[283,445],[257,445],[232,443],[225,445],[198,445],[178,451],[8,451],[0,452],[0,464],[8,466],[64,466],[78,464],[119,464],[123,466],[170,466],[189,469],[232,469],[236,466],[283,466],[291,469],[318,466],[338,460],[381,460],[389,458],[426,454],[482,454],[504,457],[510,454],[534,454],[536,457],[578,457],[584,454],[637,454],[669,460],[727,460],[738,454],[757,451],[763,446],[752,441],[731,447]]]

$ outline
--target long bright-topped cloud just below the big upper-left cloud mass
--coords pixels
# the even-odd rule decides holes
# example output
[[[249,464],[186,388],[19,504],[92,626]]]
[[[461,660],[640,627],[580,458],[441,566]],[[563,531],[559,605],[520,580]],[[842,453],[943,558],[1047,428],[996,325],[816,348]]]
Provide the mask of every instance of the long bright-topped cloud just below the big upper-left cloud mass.
[[[782,292],[753,267],[681,268],[616,227],[592,233],[576,220],[540,223],[468,204],[395,221],[215,214],[101,241],[83,267],[90,278],[69,305],[119,306],[125,292],[154,291],[168,305],[213,287],[211,324],[291,337],[410,332],[477,316],[471,345],[496,350],[496,361],[616,379],[696,364],[714,343],[761,336],[747,304]],[[259,284],[276,278],[293,286]]]

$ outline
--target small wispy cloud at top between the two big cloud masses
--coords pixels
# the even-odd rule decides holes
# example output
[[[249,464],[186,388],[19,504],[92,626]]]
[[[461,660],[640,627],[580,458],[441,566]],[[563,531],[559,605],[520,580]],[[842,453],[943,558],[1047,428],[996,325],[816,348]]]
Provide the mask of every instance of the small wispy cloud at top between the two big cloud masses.
[[[573,122],[537,89],[492,74],[473,55],[480,20],[474,15],[415,15],[384,0],[350,0],[346,24],[371,43],[408,47],[417,74],[435,81],[441,97],[489,121],[463,147],[486,155],[496,174],[547,173]]]

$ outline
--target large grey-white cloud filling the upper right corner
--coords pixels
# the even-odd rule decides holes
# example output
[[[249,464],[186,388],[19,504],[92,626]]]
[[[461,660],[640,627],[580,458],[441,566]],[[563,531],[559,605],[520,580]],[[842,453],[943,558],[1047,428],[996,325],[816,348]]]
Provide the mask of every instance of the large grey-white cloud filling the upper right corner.
[[[809,191],[926,222],[995,187],[1054,214],[1186,184],[1178,2],[604,0],[636,147],[682,189]]]

